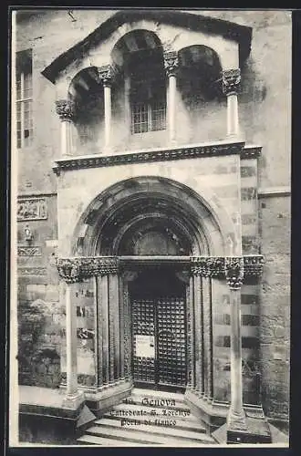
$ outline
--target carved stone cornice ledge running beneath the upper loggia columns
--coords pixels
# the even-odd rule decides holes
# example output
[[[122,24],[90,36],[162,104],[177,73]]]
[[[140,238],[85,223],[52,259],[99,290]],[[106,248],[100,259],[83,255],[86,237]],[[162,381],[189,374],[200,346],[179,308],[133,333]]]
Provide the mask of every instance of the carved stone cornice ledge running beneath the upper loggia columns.
[[[146,163],[151,161],[172,161],[196,159],[200,157],[217,157],[224,155],[243,154],[244,142],[200,144],[176,149],[150,150],[129,152],[115,155],[89,155],[87,157],[73,157],[57,160],[53,170],[59,175],[59,171],[81,170],[84,168],[103,168],[132,163]]]

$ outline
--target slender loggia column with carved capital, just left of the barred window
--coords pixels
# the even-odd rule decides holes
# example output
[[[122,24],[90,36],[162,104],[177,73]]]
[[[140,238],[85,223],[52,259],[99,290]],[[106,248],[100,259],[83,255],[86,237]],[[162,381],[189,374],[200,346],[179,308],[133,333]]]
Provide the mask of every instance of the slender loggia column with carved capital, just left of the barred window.
[[[104,105],[105,105],[105,149],[108,150],[111,140],[111,86],[115,75],[115,70],[111,65],[99,67],[99,81],[102,82],[104,90]]]

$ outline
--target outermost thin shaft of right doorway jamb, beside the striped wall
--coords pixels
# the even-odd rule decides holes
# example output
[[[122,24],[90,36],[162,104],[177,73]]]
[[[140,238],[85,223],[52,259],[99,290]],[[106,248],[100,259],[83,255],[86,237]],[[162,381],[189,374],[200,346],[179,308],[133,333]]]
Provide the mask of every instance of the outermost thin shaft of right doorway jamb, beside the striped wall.
[[[213,322],[211,278],[202,277],[204,396],[213,399]]]

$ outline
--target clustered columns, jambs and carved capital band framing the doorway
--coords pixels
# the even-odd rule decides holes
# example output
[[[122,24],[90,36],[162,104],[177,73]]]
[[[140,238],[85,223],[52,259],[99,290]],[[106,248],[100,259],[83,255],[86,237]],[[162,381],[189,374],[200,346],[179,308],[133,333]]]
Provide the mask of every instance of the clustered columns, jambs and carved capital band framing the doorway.
[[[129,282],[145,268],[172,267],[186,284],[187,299],[187,399],[213,402],[213,337],[211,280],[222,278],[230,286],[234,312],[231,354],[236,359],[232,365],[232,397],[230,414],[240,420],[243,409],[241,381],[240,318],[236,319],[237,303],[244,276],[262,273],[263,257],[248,255],[223,256],[90,256],[58,258],[57,269],[66,283],[67,314],[67,403],[78,399],[85,391],[88,406],[102,413],[121,399],[130,395],[131,334]],[[93,277],[96,299],[96,366],[95,387],[78,389],[77,372],[77,316],[72,306],[72,284]],[[238,312],[239,314],[239,312]],[[116,316],[118,316],[116,318]],[[236,325],[239,322],[238,326]],[[237,361],[238,359],[238,361]],[[236,376],[236,377],[235,377]],[[235,378],[235,379],[234,379]],[[235,389],[234,389],[235,387]],[[234,389],[234,391],[233,391]],[[244,412],[244,409],[243,409]],[[243,417],[244,418],[244,417]]]

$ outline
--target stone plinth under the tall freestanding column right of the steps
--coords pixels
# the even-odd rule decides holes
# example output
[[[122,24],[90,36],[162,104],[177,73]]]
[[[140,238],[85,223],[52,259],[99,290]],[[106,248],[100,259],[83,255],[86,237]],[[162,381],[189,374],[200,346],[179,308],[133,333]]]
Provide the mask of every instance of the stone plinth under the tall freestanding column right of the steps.
[[[245,427],[245,430],[238,430],[225,423],[214,430],[212,436],[221,444],[272,443],[271,430],[266,420],[247,417]]]

